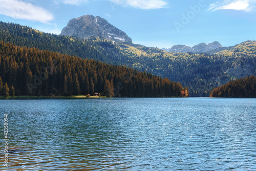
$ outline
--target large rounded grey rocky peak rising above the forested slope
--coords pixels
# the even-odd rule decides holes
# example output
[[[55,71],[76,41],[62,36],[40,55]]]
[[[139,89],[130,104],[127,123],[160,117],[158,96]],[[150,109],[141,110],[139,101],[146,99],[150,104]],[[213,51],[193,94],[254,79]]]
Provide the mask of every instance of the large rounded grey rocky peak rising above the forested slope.
[[[133,42],[126,33],[111,25],[107,20],[93,15],[71,19],[68,25],[62,29],[60,35],[76,36],[83,39],[96,36],[113,42],[127,42],[129,44]]]

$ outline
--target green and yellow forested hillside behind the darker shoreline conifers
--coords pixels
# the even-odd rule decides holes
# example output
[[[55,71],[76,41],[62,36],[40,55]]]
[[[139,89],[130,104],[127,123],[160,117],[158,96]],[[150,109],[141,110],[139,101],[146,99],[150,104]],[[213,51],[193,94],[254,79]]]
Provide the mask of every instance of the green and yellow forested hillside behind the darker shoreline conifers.
[[[161,75],[188,86],[190,96],[209,96],[210,90],[230,79],[256,74],[256,41],[246,41],[211,55],[169,53],[158,48],[113,44],[97,37],[81,40],[58,36],[3,22],[0,23],[0,40]]]

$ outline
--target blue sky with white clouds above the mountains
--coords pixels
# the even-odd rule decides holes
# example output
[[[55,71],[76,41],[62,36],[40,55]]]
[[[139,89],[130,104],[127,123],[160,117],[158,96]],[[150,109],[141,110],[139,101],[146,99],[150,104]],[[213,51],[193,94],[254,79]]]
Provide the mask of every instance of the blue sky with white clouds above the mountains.
[[[70,19],[101,16],[135,44],[170,48],[256,40],[256,0],[0,0],[0,20],[60,34]]]

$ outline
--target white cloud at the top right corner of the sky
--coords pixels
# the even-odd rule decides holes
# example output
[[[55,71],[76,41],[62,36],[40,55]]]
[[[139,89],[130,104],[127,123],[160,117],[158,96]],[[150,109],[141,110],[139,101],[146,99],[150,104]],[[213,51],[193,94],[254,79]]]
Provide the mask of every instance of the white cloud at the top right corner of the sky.
[[[225,0],[223,3],[214,3],[210,5],[211,11],[216,10],[238,10],[238,11],[245,11],[249,12],[252,9],[252,4],[255,0]]]

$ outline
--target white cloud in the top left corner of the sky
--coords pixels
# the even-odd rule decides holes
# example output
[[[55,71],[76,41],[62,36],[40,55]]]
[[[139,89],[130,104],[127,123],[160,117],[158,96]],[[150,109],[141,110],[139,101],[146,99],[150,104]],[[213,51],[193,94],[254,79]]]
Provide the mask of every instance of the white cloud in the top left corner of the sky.
[[[49,23],[53,15],[44,8],[17,0],[0,0],[0,14],[16,19],[27,19],[41,23]]]

